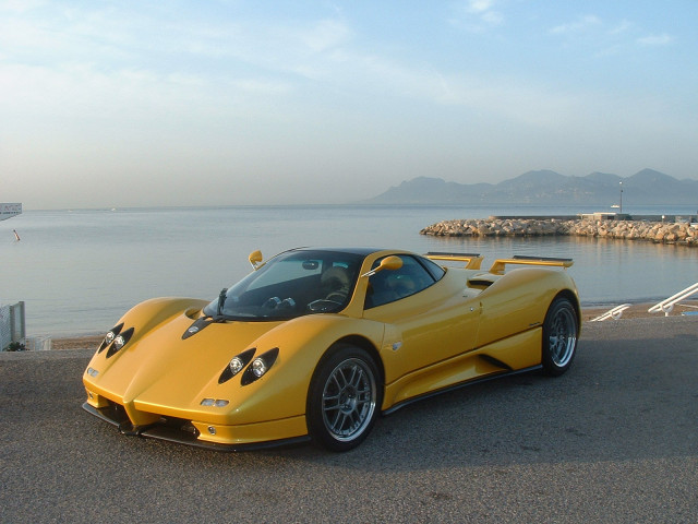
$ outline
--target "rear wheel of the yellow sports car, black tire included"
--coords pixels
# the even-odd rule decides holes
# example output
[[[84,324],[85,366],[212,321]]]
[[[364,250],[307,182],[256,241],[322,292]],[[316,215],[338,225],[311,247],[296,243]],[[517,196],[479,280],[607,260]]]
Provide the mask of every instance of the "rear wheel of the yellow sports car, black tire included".
[[[571,366],[577,353],[579,318],[569,299],[557,297],[550,305],[543,323],[542,365],[546,374],[557,377]]]

